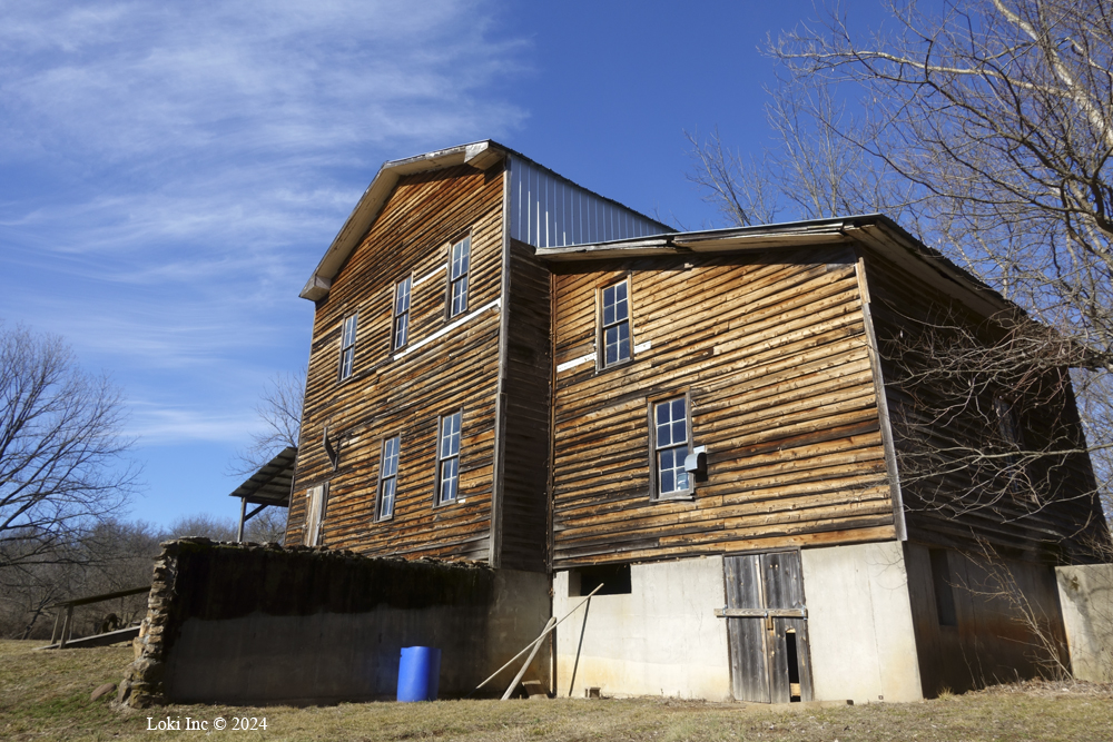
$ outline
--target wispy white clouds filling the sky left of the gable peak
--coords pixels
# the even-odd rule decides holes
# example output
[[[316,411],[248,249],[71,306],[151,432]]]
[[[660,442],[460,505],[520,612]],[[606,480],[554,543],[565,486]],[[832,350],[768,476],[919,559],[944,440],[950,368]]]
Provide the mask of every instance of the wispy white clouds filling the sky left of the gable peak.
[[[0,318],[111,370],[146,443],[244,441],[378,165],[525,120],[492,11],[0,0]]]

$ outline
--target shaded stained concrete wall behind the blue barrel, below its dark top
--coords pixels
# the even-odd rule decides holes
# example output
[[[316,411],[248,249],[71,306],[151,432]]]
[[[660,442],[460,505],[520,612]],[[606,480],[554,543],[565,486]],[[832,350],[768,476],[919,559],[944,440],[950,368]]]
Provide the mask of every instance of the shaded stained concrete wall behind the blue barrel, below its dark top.
[[[393,699],[404,646],[440,649],[440,694],[465,695],[549,619],[545,575],[498,571],[494,583],[490,605],[188,619],[167,663],[166,695],[179,703],[245,704]],[[548,687],[548,652],[539,657],[525,680]],[[486,694],[501,694],[520,666],[492,681]]]

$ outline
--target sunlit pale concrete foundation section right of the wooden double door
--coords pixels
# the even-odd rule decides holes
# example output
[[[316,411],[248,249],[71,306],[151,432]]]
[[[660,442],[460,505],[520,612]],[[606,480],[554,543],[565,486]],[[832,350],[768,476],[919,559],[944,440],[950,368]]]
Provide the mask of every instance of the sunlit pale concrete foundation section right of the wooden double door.
[[[800,552],[817,701],[923,699],[898,542]]]

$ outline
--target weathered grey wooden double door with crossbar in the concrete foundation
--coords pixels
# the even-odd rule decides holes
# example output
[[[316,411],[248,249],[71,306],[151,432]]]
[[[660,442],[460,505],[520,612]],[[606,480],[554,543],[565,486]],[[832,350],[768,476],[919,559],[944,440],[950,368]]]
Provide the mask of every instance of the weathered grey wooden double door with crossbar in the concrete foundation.
[[[723,560],[730,676],[735,699],[811,700],[808,611],[799,552]]]

